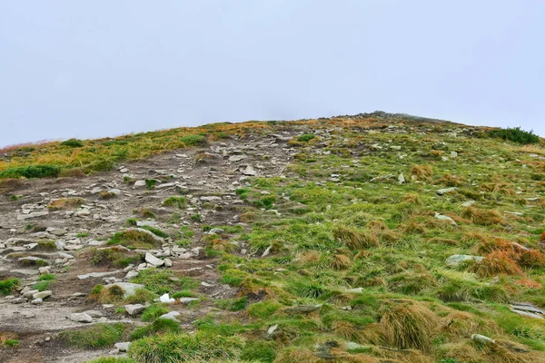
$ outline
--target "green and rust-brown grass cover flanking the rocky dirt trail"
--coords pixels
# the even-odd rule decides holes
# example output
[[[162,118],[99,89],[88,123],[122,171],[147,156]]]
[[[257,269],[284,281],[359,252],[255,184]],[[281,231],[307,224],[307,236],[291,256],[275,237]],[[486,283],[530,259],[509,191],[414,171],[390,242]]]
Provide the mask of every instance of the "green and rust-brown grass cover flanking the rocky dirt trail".
[[[404,132],[385,132],[392,123]],[[282,363],[545,361],[544,320],[522,318],[507,305],[530,301],[545,308],[545,256],[538,246],[545,200],[531,199],[545,191],[545,162],[530,157],[545,155],[542,146],[477,138],[473,128],[455,137],[451,131],[464,127],[400,118],[297,124],[316,137],[292,141],[298,154],[288,178],[253,179],[251,188],[238,191],[249,227],[233,231],[230,240],[246,241],[258,256],[271,246],[272,253],[248,259],[218,240],[207,249],[223,256],[223,282],[239,288],[239,299],[218,301],[218,307],[240,312],[197,321],[199,344],[183,335],[144,338],[130,355],[137,361],[181,361],[175,359],[183,354]],[[288,127],[217,124],[85,141],[83,148],[51,143],[9,165],[0,162],[0,169],[47,163],[90,171],[96,158],[118,162],[182,147],[180,137],[187,134],[217,140]],[[316,148],[322,131],[333,128],[327,145]],[[401,172],[404,184],[397,182]],[[389,174],[395,178],[371,182]],[[436,193],[453,186],[458,190]],[[467,201],[475,203],[462,206]],[[436,219],[436,212],[457,226]],[[486,257],[451,268],[445,260],[453,254]],[[291,310],[301,305],[316,308]],[[472,334],[497,344],[481,345]],[[226,344],[228,354],[188,353],[203,349],[207,339]]]

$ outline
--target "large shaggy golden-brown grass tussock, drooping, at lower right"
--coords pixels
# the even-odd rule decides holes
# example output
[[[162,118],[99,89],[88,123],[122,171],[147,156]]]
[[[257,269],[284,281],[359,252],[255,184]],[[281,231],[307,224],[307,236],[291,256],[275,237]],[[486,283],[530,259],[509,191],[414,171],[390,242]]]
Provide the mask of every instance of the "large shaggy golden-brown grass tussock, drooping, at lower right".
[[[436,315],[422,303],[400,300],[384,309],[380,324],[389,346],[429,351]]]

